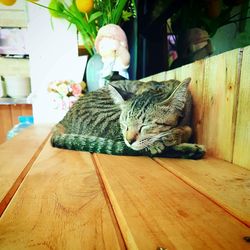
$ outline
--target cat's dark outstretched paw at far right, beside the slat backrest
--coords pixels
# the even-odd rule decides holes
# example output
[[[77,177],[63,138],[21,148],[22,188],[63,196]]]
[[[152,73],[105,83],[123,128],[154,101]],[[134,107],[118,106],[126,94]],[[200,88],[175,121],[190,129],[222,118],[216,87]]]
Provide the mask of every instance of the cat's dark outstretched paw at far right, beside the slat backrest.
[[[206,148],[200,144],[181,143],[172,147],[182,158],[200,159],[206,153]]]

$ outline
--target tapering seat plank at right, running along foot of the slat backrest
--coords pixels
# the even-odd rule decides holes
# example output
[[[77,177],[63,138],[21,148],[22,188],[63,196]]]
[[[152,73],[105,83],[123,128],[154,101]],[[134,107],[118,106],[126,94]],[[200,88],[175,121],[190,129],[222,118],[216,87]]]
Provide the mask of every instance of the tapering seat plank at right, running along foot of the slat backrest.
[[[250,227],[250,171],[215,158],[155,160]]]

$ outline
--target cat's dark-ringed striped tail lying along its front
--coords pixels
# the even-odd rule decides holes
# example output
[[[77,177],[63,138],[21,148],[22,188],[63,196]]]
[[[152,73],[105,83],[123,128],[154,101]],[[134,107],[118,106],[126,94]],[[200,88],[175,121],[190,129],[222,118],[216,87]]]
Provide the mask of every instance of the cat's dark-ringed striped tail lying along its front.
[[[87,151],[90,153],[142,155],[142,152],[129,148],[124,141],[113,141],[107,138],[79,134],[53,133],[51,144],[57,148]]]

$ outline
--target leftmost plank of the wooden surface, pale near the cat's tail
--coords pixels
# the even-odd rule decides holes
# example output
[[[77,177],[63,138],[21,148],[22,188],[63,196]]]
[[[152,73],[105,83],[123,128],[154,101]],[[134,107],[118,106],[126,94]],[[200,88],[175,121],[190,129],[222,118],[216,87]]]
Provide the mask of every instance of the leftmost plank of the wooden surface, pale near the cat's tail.
[[[50,129],[50,126],[32,126],[0,145],[0,216],[40,152]]]

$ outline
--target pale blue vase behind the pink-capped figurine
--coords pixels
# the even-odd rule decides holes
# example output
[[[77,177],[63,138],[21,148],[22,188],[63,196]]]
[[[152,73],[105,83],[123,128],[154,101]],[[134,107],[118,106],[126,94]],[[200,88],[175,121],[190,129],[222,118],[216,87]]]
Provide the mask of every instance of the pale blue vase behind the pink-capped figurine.
[[[95,91],[102,87],[103,62],[99,54],[95,53],[87,62],[86,80],[88,91]]]

